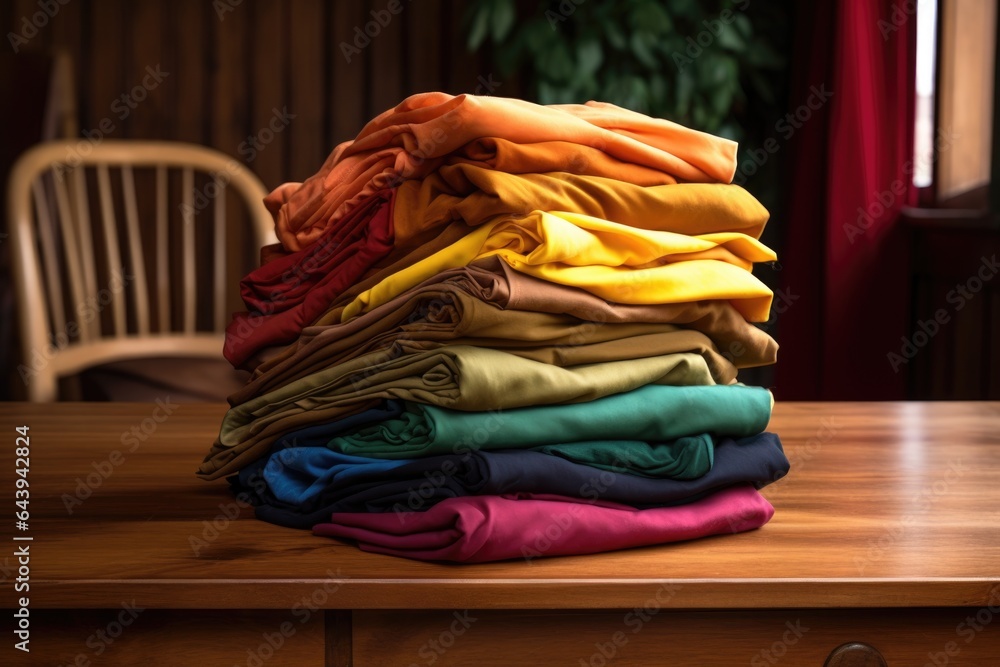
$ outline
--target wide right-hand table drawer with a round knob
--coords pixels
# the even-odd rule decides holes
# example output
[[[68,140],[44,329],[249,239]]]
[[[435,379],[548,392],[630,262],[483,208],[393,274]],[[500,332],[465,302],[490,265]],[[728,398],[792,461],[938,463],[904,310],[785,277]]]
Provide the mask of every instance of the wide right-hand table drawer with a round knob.
[[[355,611],[353,655],[355,667],[823,667],[838,646],[861,642],[888,667],[997,667],[998,615],[989,608],[686,612],[655,603],[582,612]],[[830,667],[879,664],[863,658],[843,656]]]

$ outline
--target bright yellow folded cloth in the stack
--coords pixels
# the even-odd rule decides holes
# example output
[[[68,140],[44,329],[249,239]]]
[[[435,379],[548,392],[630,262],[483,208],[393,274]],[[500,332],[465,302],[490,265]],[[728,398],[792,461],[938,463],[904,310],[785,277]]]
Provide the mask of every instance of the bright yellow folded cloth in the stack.
[[[750,273],[774,251],[738,232],[687,236],[637,229],[579,213],[533,211],[504,216],[362,292],[342,320],[366,312],[449,268],[497,255],[542,280],[579,287],[618,303],[726,299],[763,322],[771,290]]]

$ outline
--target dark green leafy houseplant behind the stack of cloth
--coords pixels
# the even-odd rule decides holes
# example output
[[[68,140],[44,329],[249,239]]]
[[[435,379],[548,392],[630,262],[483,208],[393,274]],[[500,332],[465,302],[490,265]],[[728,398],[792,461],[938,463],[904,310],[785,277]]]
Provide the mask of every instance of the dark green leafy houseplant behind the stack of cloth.
[[[465,20],[469,49],[491,47],[539,103],[600,99],[744,140],[783,102],[786,11],[760,4],[473,0]]]

